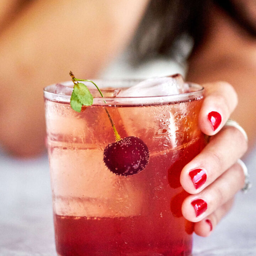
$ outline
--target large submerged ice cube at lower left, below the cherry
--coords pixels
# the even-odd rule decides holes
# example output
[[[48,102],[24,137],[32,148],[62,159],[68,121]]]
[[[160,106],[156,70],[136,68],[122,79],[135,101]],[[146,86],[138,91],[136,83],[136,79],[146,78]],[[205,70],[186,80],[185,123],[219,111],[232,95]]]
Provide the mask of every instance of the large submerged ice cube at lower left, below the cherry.
[[[54,211],[86,217],[138,216],[146,184],[110,172],[100,149],[54,148],[49,154]]]

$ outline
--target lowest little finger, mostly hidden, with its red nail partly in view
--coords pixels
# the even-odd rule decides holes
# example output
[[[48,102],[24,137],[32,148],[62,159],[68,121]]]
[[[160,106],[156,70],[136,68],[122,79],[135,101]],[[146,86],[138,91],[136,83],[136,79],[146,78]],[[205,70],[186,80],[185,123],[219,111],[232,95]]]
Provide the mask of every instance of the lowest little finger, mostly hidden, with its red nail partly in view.
[[[224,203],[206,218],[194,224],[194,232],[199,236],[209,236],[220,220],[229,212],[234,202],[234,198]]]

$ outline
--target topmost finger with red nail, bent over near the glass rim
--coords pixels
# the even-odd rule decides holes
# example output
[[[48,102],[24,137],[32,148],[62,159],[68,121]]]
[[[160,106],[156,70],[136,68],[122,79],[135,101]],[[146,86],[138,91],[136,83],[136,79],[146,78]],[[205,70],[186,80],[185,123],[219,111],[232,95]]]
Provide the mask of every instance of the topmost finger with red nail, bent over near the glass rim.
[[[199,113],[199,127],[207,135],[216,134],[234,111],[238,97],[227,82],[204,84],[205,98]]]

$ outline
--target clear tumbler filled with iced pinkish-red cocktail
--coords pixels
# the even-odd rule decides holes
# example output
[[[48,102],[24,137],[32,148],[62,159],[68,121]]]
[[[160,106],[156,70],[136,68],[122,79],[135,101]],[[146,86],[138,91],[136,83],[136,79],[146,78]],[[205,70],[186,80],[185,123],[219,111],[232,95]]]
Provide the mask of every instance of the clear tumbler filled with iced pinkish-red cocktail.
[[[138,81],[95,82],[106,103],[87,83],[94,104],[80,113],[70,107],[71,82],[44,89],[58,255],[191,255],[193,223],[181,213],[188,194],[180,172],[205,145],[198,128],[202,88],[117,97]],[[144,170],[117,175],[107,168],[104,149],[116,138],[106,110],[121,138],[140,138],[148,147]]]

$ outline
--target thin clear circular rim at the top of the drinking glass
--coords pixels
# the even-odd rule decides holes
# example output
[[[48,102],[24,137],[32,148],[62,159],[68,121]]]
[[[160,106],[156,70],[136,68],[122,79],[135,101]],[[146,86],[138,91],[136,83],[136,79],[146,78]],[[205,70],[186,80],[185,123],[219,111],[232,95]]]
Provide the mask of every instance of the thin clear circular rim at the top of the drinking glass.
[[[144,79],[94,79],[93,81],[97,84],[100,82],[111,82],[111,83],[127,83],[127,82],[140,82]],[[59,84],[73,87],[72,81],[61,82]],[[176,103],[176,102],[186,102],[191,99],[199,99],[203,96],[204,87],[202,85],[193,83],[193,82],[185,82],[190,88],[196,89],[196,91],[184,92],[181,94],[173,94],[173,95],[161,95],[161,96],[128,96],[128,97],[94,97],[94,103],[92,106],[98,105],[152,105],[152,104],[163,104],[163,103]],[[57,94],[51,92],[50,89],[56,86],[57,84],[52,84],[44,87],[44,98],[50,101],[55,101],[58,103],[70,103],[70,95]],[[72,86],[71,86],[72,85]],[[98,86],[100,89],[104,89],[107,86]],[[121,86],[120,86],[121,87]],[[124,88],[125,86],[123,86]],[[118,87],[110,86],[107,88],[118,89]],[[127,86],[128,88],[128,86]],[[105,101],[105,102],[104,102]],[[136,103],[134,103],[134,101]],[[148,102],[148,103],[147,103]]]

